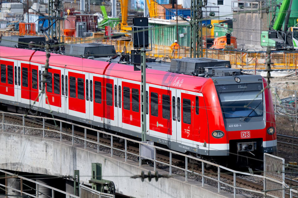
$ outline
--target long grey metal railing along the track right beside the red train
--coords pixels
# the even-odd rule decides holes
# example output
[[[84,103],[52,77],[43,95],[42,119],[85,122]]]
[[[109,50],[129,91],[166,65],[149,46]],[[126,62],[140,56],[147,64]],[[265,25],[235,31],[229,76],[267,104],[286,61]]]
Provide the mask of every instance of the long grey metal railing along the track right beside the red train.
[[[22,117],[23,118],[22,124],[20,123],[20,125],[15,125],[15,124],[5,123],[5,116],[6,115],[17,115],[17,116]],[[26,117],[24,115],[22,115],[22,114],[15,114],[15,113],[3,112],[2,113],[2,130],[5,131],[5,126],[18,126],[18,127],[21,127],[22,128],[22,133],[23,134],[25,134],[25,133],[26,134],[29,134],[28,131],[26,132],[27,129],[34,129],[34,130],[36,129],[36,130],[41,130],[42,131],[42,136],[43,137],[45,137],[45,134],[48,133],[48,132],[51,132],[51,133],[54,132],[54,133],[57,133],[60,136],[60,141],[62,141],[62,139],[65,139],[66,138],[68,141],[71,141],[72,142],[72,145],[75,144],[75,140],[77,141],[77,143],[80,143],[78,140],[81,140],[83,142],[82,144],[84,145],[84,148],[87,147],[87,142],[88,143],[91,143],[91,144],[95,144],[95,145],[97,145],[97,152],[98,153],[100,152],[100,146],[107,147],[111,151],[111,157],[113,157],[113,155],[114,155],[113,154],[114,153],[113,151],[121,151],[121,152],[125,153],[125,155],[124,155],[125,162],[128,161],[128,155],[137,156],[139,158],[139,166],[142,166],[142,159],[146,159],[146,160],[152,161],[153,166],[154,166],[154,171],[156,171],[157,164],[168,166],[169,167],[169,175],[170,176],[173,175],[173,172],[172,172],[173,169],[183,171],[184,172],[184,175],[185,175],[185,181],[188,181],[188,175],[189,174],[193,174],[193,175],[199,176],[199,177],[201,177],[201,185],[203,187],[206,184],[206,180],[215,181],[215,182],[217,182],[217,189],[218,189],[217,192],[218,193],[221,192],[221,186],[229,186],[229,187],[233,188],[233,195],[234,195],[234,197],[236,197],[236,190],[238,190],[238,189],[243,190],[243,191],[247,191],[247,192],[250,192],[250,193],[257,193],[257,194],[265,195],[265,192],[251,190],[251,189],[246,189],[246,188],[241,188],[241,187],[239,187],[239,186],[236,185],[236,174],[237,175],[245,175],[245,176],[252,177],[252,178],[254,178],[254,179],[252,179],[253,181],[255,181],[256,178],[259,178],[261,180],[264,180],[266,178],[266,177],[261,176],[261,175],[254,175],[254,174],[250,174],[250,173],[246,173],[246,172],[234,171],[234,170],[229,169],[227,167],[220,166],[220,165],[217,165],[217,164],[214,164],[214,163],[205,161],[205,160],[201,160],[201,159],[198,159],[198,158],[193,157],[193,156],[181,154],[181,153],[176,152],[176,151],[172,151],[172,150],[169,150],[169,149],[161,148],[161,147],[158,147],[158,146],[149,145],[149,144],[146,144],[146,143],[143,143],[143,142],[140,142],[140,141],[136,141],[136,140],[132,140],[132,139],[129,139],[129,138],[126,138],[126,137],[123,137],[123,136],[118,136],[118,135],[110,134],[110,133],[107,133],[107,132],[104,132],[104,131],[95,130],[95,129],[92,129],[90,127],[80,126],[78,124],[74,124],[74,123],[71,123],[71,122],[67,122],[67,121],[63,121],[63,120],[59,120],[59,119],[55,119],[55,118],[39,117],[39,116],[28,116],[28,117],[42,119],[43,120],[42,128],[25,126],[25,119],[26,119]],[[60,123],[60,129],[58,128],[58,130],[53,130],[53,129],[47,128],[47,126],[45,124],[45,120],[55,120],[56,123]],[[63,131],[62,130],[62,123],[63,124],[67,124],[68,126],[71,125],[72,132],[71,133],[67,133],[67,132]],[[80,129],[82,131],[85,131],[84,137],[75,135],[74,134],[74,127],[76,127],[76,129]],[[97,133],[97,141],[93,141],[93,140],[87,139],[87,135],[86,135],[87,134],[87,130],[88,131],[93,131],[93,132],[96,132]],[[106,145],[106,144],[100,143],[99,142],[100,134],[105,135],[105,136],[110,136],[111,144],[110,145]],[[113,139],[114,138],[121,138],[121,139],[123,139],[125,141],[125,148],[124,149],[119,149],[119,148],[114,147],[113,146]],[[128,142],[134,142],[135,144],[139,144],[139,148],[140,148],[139,153],[135,154],[135,153],[129,152],[128,151]],[[149,147],[149,148],[151,148],[154,151],[154,155],[153,155],[154,157],[153,158],[148,158],[146,156],[142,156],[141,155],[141,147],[142,147],[142,145],[144,145],[146,147]],[[169,161],[168,162],[159,161],[156,158],[156,151],[157,150],[162,150],[163,152],[168,153],[169,154]],[[185,159],[185,167],[179,167],[179,166],[173,165],[173,163],[172,163],[173,162],[173,160],[172,160],[172,156],[173,155],[177,155],[177,156],[183,157]],[[188,161],[189,160],[195,161],[196,163],[201,163],[201,172],[194,172],[193,170],[188,169]],[[215,167],[215,169],[217,169],[216,175],[214,175],[214,176],[208,176],[208,175],[206,175],[205,174],[205,164],[208,164],[208,166]],[[222,181],[221,171],[233,173],[233,184]],[[276,181],[276,182],[279,182],[279,181]]]

